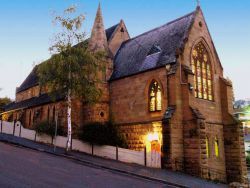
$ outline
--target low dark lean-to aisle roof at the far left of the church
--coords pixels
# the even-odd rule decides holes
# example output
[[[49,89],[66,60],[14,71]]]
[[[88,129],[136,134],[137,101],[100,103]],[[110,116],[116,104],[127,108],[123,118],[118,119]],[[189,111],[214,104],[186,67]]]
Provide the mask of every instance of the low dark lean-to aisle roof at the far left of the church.
[[[63,100],[65,97],[63,96],[56,96],[55,101]],[[29,108],[34,106],[40,106],[42,104],[47,104],[52,102],[53,100],[48,94],[40,95],[39,97],[33,97],[21,102],[13,102],[4,107],[4,111],[11,111],[15,109],[23,109],[23,108]]]

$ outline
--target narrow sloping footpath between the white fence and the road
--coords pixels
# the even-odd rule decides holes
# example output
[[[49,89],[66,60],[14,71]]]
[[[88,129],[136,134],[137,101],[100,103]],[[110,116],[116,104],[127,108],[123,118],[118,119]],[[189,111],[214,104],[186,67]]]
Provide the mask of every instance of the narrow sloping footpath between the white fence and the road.
[[[144,166],[139,166],[136,164],[122,163],[115,160],[109,160],[74,151],[68,152],[66,154],[65,149],[63,148],[56,148],[56,150],[54,151],[53,146],[37,143],[20,137],[14,137],[12,135],[0,133],[0,141],[37,150],[40,152],[46,152],[60,157],[65,157],[70,160],[77,161],[83,165],[88,165],[96,168],[103,168],[114,172],[128,174],[152,181],[158,181],[160,183],[173,185],[176,187],[188,187],[188,188],[228,187],[227,185],[224,184],[216,184],[213,182],[208,182],[206,180],[189,176],[180,172],[173,172],[165,169],[152,169]]]

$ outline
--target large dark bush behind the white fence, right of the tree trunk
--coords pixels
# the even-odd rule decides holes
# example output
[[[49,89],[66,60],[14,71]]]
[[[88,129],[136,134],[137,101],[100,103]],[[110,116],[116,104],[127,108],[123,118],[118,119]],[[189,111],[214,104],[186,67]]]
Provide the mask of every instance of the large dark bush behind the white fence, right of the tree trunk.
[[[110,145],[127,148],[125,139],[112,123],[90,123],[82,126],[79,137],[82,141],[97,145]]]

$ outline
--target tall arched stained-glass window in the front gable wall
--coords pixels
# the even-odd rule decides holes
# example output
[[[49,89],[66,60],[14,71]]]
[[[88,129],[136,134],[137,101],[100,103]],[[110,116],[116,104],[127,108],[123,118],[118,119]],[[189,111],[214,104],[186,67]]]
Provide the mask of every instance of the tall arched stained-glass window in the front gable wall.
[[[202,42],[192,50],[191,67],[194,73],[195,97],[213,100],[212,69],[208,52]]]

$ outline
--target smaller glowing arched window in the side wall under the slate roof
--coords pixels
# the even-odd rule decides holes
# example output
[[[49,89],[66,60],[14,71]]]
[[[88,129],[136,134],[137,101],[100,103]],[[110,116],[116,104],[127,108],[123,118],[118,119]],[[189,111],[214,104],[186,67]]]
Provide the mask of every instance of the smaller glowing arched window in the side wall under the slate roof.
[[[161,87],[156,81],[152,81],[149,87],[149,111],[156,112],[162,110]]]

